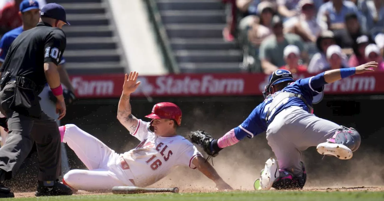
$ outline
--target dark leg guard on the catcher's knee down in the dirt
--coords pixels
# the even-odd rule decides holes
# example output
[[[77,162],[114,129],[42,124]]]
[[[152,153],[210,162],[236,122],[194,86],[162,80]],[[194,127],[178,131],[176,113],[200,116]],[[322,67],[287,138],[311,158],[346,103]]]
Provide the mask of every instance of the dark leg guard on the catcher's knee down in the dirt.
[[[301,175],[294,176],[288,170],[279,170],[280,176],[273,182],[272,187],[276,190],[302,189],[307,180],[307,173],[305,172],[304,163],[301,162],[301,164],[303,166],[303,173]]]

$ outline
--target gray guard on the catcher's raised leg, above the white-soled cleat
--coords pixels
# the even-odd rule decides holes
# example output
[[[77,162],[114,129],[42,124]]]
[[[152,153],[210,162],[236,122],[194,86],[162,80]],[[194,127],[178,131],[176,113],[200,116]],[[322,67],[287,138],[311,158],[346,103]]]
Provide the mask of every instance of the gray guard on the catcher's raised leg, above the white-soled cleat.
[[[336,135],[334,136],[334,142],[337,144],[346,145],[353,152],[358,150],[361,143],[361,136],[353,127],[340,126]]]

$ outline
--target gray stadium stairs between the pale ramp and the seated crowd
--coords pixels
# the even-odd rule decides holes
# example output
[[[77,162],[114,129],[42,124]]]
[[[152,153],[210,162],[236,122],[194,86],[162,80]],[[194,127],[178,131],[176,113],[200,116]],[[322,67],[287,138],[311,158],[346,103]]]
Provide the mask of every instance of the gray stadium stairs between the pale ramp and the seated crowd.
[[[180,72],[239,72],[243,54],[225,42],[220,0],[156,0]]]

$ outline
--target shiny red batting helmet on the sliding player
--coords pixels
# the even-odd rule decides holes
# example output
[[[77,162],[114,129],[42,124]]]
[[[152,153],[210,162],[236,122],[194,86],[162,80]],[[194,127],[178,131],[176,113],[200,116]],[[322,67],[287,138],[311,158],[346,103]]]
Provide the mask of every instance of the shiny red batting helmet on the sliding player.
[[[174,103],[157,103],[152,108],[152,113],[145,116],[150,119],[173,119],[177,125],[181,125],[181,110]]]

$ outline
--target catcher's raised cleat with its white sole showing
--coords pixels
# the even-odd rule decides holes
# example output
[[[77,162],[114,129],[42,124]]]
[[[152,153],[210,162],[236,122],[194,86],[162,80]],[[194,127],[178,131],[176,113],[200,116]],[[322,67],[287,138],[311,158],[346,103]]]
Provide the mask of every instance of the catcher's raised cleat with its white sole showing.
[[[322,155],[331,155],[341,160],[351,159],[353,156],[352,150],[346,145],[335,144],[331,142],[323,142],[317,145],[317,152]]]

